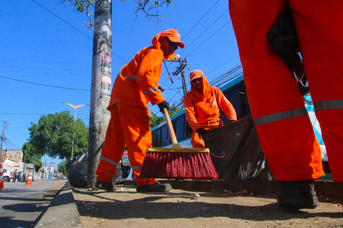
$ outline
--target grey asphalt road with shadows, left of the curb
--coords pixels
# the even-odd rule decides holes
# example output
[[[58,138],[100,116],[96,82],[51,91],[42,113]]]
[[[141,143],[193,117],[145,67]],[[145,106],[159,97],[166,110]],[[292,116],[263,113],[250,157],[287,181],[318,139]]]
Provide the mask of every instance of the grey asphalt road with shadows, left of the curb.
[[[39,180],[32,182],[33,185],[4,183],[6,190],[0,190],[0,227],[34,227],[66,181]]]

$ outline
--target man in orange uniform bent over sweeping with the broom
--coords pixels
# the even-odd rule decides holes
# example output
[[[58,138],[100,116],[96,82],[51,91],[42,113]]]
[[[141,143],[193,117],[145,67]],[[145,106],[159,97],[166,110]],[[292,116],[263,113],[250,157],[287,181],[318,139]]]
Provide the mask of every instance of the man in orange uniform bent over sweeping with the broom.
[[[111,112],[100,162],[96,170],[95,187],[113,191],[112,177],[127,146],[137,192],[169,191],[169,184],[156,179],[141,178],[140,168],[145,150],[151,147],[150,112],[148,102],[162,111],[169,103],[159,90],[163,57],[172,55],[178,46],[184,48],[175,29],[158,33],[152,46],[139,51],[119,72],[107,109]]]

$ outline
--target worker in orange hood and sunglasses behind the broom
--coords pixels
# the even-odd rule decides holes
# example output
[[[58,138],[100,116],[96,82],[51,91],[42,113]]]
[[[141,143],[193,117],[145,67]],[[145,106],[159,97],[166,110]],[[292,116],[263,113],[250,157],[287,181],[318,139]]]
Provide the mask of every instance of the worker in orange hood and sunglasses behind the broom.
[[[193,148],[205,148],[201,134],[224,126],[218,105],[229,118],[229,123],[237,120],[236,111],[222,91],[209,85],[203,72],[194,70],[189,79],[191,91],[186,94],[184,105],[187,121],[193,129],[191,144]]]

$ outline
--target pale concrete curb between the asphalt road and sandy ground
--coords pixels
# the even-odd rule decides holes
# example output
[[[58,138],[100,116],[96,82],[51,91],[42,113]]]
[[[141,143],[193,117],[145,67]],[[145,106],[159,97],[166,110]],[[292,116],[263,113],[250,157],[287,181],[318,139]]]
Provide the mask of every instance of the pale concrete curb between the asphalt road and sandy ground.
[[[71,185],[66,182],[35,228],[82,228]]]

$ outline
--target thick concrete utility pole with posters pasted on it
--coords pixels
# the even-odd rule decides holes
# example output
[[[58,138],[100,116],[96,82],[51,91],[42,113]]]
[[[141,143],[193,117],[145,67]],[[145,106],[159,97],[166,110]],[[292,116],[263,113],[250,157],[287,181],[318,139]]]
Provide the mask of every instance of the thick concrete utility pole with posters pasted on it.
[[[87,188],[94,188],[95,171],[105,141],[111,98],[112,0],[96,0],[89,119]]]

